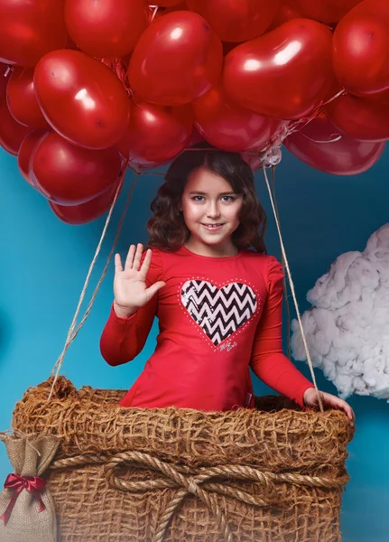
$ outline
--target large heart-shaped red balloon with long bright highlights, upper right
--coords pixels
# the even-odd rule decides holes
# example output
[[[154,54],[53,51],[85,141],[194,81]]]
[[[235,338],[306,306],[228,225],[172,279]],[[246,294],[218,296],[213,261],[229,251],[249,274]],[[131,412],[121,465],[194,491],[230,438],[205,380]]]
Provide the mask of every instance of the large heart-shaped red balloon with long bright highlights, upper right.
[[[242,43],[225,60],[227,94],[264,117],[305,117],[329,91],[331,44],[329,29],[309,19],[294,19]]]

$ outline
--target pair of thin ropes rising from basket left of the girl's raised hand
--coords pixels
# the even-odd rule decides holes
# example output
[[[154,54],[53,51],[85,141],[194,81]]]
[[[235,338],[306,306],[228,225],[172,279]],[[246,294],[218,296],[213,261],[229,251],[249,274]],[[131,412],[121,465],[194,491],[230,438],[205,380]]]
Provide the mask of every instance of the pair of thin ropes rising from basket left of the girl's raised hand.
[[[90,280],[90,276],[92,274],[92,271],[93,271],[93,268],[95,266],[95,263],[96,263],[96,260],[97,260],[97,257],[98,257],[98,254],[100,252],[100,249],[101,249],[101,246],[103,244],[103,240],[104,238],[106,237],[106,233],[107,233],[107,228],[108,228],[108,224],[111,220],[111,216],[112,216],[112,212],[115,208],[115,205],[116,205],[116,201],[117,201],[117,198],[118,198],[118,195],[119,195],[119,192],[123,186],[123,182],[124,182],[124,179],[125,179],[125,169],[126,169],[126,165],[127,164],[124,164],[123,165],[123,171],[120,175],[120,178],[119,178],[119,182],[118,182],[118,185],[117,185],[117,190],[116,190],[116,194],[115,194],[115,198],[114,198],[114,201],[112,202],[112,205],[111,205],[111,208],[107,214],[107,220],[106,220],[106,223],[104,225],[104,229],[101,233],[101,237],[100,237],[100,240],[98,242],[98,245],[97,245],[97,248],[96,248],[96,252],[95,252],[95,256],[93,257],[92,259],[92,262],[89,266],[89,269],[88,269],[88,275],[87,275],[87,278],[85,279],[85,283],[84,283],[84,286],[82,288],[82,292],[79,296],[79,304],[77,305],[77,309],[76,309],[76,313],[74,314],[74,317],[73,317],[73,320],[70,324],[70,327],[69,327],[69,332],[68,332],[68,336],[66,338],[66,341],[65,341],[65,344],[64,344],[64,347],[63,347],[63,350],[61,351],[60,353],[60,357],[58,358],[58,360],[55,362],[54,364],[54,367],[51,369],[51,376],[54,375],[54,378],[53,378],[53,381],[52,381],[52,385],[51,385],[51,390],[50,390],[50,394],[49,394],[49,397],[48,397],[48,400],[51,399],[51,396],[52,396],[52,392],[53,392],[53,389],[55,387],[55,384],[57,382],[57,378],[58,378],[58,375],[60,373],[60,368],[62,366],[62,363],[63,363],[63,359],[65,357],[65,354],[67,352],[67,350],[69,349],[69,346],[70,344],[76,339],[78,333],[79,333],[79,330],[81,329],[82,325],[84,324],[84,322],[87,320],[88,318],[88,315],[92,309],[92,305],[94,304],[95,302],[95,298],[97,296],[97,292],[100,288],[100,285],[101,283],[103,282],[105,276],[107,275],[107,269],[108,269],[108,266],[109,266],[109,263],[111,261],[111,258],[112,258],[112,255],[115,251],[115,248],[116,248],[116,244],[117,244],[117,240],[119,238],[119,235],[120,235],[120,231],[122,229],[122,226],[123,226],[123,223],[124,223],[124,220],[125,220],[125,214],[126,214],[126,211],[128,209],[128,205],[131,201],[131,198],[132,198],[132,195],[133,195],[133,192],[134,192],[134,187],[135,187],[135,184],[136,184],[136,180],[138,178],[138,175],[135,176],[134,178],[134,182],[132,184],[132,187],[130,189],[130,192],[128,194],[128,197],[127,197],[127,201],[125,202],[125,209],[123,210],[123,213],[122,213],[122,216],[120,218],[120,221],[119,221],[119,225],[117,227],[117,231],[116,231],[116,238],[114,239],[114,243],[113,243],[113,246],[111,248],[111,251],[108,255],[108,258],[107,258],[107,263],[106,263],[106,266],[104,267],[103,269],[103,273],[97,283],[97,286],[95,288],[95,291],[93,292],[92,294],[92,298],[88,304],[88,307],[87,307],[87,310],[84,314],[84,316],[82,317],[82,320],[81,322],[79,322],[79,326],[76,328],[76,322],[77,322],[77,319],[79,317],[79,311],[80,311],[80,307],[81,307],[81,304],[84,300],[84,297],[85,297],[85,293],[87,291],[87,288],[88,288],[88,284],[89,284],[89,280]]]

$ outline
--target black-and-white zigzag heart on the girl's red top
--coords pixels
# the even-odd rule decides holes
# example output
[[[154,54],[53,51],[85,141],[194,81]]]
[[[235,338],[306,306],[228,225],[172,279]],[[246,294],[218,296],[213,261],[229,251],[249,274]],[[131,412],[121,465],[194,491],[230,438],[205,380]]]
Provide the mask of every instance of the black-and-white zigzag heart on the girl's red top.
[[[204,280],[189,280],[181,289],[181,303],[208,338],[218,346],[255,313],[257,301],[250,286],[231,283],[222,288]]]

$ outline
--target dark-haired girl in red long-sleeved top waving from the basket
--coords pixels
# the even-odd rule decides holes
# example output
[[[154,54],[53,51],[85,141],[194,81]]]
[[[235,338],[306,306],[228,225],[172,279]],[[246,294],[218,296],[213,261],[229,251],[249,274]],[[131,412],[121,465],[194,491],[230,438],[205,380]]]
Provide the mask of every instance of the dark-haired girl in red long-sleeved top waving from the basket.
[[[249,368],[300,406],[317,407],[310,380],[282,353],[282,266],[266,256],[266,217],[239,154],[186,151],[166,173],[147,223],[148,249],[115,257],[114,303],[100,340],[107,363],[156,349],[121,406],[254,408]],[[254,248],[253,249],[250,249]],[[320,392],[323,406],[354,413]]]

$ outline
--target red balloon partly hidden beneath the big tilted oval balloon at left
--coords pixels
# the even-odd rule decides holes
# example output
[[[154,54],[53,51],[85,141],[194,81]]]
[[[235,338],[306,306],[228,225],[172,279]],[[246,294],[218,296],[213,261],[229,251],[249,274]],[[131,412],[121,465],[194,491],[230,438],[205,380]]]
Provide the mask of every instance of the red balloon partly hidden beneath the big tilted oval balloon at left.
[[[60,205],[78,205],[112,186],[121,164],[116,147],[100,151],[83,149],[51,132],[35,147],[30,174],[48,200]]]

